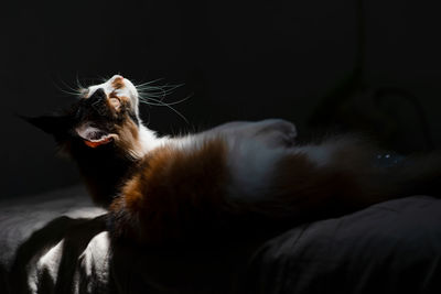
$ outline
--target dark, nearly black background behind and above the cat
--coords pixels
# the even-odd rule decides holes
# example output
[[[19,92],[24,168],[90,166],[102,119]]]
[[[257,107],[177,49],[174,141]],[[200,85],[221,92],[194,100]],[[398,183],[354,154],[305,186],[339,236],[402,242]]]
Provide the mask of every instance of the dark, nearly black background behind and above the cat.
[[[401,153],[441,144],[440,1],[15,1],[1,12],[0,198],[79,181],[14,117],[121,74],[181,84],[143,107],[161,133],[284,118],[300,133],[362,130]],[[364,18],[363,18],[364,17]],[[149,115],[150,113],[150,115]]]

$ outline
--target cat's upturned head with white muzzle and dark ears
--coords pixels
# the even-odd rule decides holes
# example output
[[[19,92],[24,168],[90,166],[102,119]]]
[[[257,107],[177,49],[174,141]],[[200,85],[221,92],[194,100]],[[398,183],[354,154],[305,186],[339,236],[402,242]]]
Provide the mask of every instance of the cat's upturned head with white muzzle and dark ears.
[[[139,94],[119,75],[82,89],[69,109],[51,116],[28,118],[32,124],[55,137],[68,152],[119,149],[130,156],[142,153],[139,139]]]

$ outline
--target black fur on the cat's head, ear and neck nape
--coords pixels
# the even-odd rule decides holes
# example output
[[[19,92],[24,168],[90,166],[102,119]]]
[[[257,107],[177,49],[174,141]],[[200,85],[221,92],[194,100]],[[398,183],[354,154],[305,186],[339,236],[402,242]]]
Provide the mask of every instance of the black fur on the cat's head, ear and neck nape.
[[[128,108],[119,113],[111,111],[104,90],[97,89],[89,98],[78,100],[64,111],[21,118],[54,135],[62,151],[77,163],[94,200],[107,206],[118,195],[120,185],[131,175],[136,164],[114,142],[97,148],[87,146],[75,128],[87,122],[103,132],[112,133],[126,115],[139,126],[137,116]]]

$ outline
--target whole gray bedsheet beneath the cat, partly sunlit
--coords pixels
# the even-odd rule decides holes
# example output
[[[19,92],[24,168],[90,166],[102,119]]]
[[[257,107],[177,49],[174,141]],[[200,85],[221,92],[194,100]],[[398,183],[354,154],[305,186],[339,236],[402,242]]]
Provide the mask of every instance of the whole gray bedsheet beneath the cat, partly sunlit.
[[[256,248],[115,247],[73,187],[0,203],[0,293],[441,293],[440,224],[441,200],[415,196]]]

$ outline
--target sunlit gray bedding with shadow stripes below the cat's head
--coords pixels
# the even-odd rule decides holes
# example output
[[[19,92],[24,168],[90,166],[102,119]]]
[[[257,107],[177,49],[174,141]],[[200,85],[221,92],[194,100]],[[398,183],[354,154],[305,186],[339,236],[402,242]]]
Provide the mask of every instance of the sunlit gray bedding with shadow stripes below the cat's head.
[[[73,187],[0,203],[2,291],[99,293],[106,286],[105,210],[86,195]]]

